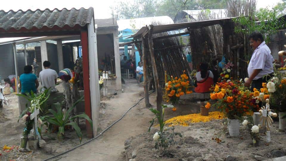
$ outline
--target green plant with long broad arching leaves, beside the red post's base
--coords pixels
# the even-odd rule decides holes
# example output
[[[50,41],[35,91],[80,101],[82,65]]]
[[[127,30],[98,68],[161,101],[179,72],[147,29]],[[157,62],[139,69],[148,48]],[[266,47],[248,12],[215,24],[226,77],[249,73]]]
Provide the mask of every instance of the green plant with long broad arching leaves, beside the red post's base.
[[[83,99],[83,97],[81,97],[79,100],[77,100],[70,109],[68,109],[66,111],[66,109],[62,110],[62,105],[60,103],[54,103],[57,112],[53,109],[49,109],[49,112],[52,113],[53,117],[50,116],[43,116],[41,117],[42,120],[45,120],[46,122],[49,123],[49,129],[52,128],[52,125],[55,125],[58,127],[58,133],[57,133],[57,137],[58,139],[63,139],[64,134],[65,134],[65,129],[67,126],[71,126],[74,128],[77,137],[80,140],[82,140],[83,134],[80,130],[80,128],[78,127],[77,123],[74,121],[77,117],[79,118],[85,118],[86,120],[88,120],[88,122],[91,124],[92,127],[92,121],[91,119],[88,117],[88,115],[86,114],[79,114],[76,116],[72,116],[72,110],[76,107],[76,105]]]

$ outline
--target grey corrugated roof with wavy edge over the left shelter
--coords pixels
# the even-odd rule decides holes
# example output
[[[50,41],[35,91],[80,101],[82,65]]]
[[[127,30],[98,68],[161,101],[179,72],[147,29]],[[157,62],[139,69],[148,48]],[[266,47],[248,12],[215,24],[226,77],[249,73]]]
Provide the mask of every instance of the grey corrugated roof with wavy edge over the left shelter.
[[[7,31],[27,31],[44,29],[61,29],[64,27],[83,27],[91,23],[94,10],[80,8],[79,10],[66,8],[58,10],[0,10],[0,33]]]

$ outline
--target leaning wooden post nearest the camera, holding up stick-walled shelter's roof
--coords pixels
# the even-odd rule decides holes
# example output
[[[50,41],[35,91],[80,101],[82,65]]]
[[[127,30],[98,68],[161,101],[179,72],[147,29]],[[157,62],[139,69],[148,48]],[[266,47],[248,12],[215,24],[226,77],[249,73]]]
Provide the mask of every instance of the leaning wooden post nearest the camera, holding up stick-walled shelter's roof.
[[[161,108],[161,103],[162,103],[162,90],[159,85],[159,79],[158,79],[158,72],[156,68],[156,62],[155,62],[155,56],[154,56],[154,48],[153,48],[153,25],[149,25],[149,35],[148,35],[148,45],[150,49],[150,57],[151,57],[151,63],[152,63],[152,69],[153,69],[153,76],[154,76],[154,81],[155,81],[155,87],[157,91],[157,110],[160,112],[160,117],[162,117],[162,108]]]

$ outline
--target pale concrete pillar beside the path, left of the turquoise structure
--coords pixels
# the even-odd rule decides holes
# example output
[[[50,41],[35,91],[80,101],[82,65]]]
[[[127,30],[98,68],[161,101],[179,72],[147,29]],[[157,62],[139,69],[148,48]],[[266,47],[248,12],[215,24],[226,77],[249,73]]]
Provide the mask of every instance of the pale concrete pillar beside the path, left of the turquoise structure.
[[[119,38],[117,37],[118,37],[118,29],[115,29],[113,33],[113,41],[114,41],[116,90],[121,90],[122,84],[121,84],[121,67],[120,67],[120,55],[119,55]]]

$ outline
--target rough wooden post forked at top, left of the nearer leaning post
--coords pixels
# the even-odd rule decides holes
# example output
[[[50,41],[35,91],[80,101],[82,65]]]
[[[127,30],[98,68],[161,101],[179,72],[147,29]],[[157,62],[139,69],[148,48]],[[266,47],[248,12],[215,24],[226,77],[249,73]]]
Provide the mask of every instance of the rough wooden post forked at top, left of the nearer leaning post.
[[[144,94],[145,94],[145,106],[150,108],[149,102],[149,90],[148,90],[148,69],[147,69],[147,55],[145,47],[145,38],[142,36],[142,52],[139,48],[139,45],[136,45],[136,48],[139,51],[139,54],[142,55],[143,59],[143,77],[144,77]],[[141,52],[141,53],[140,53]]]

